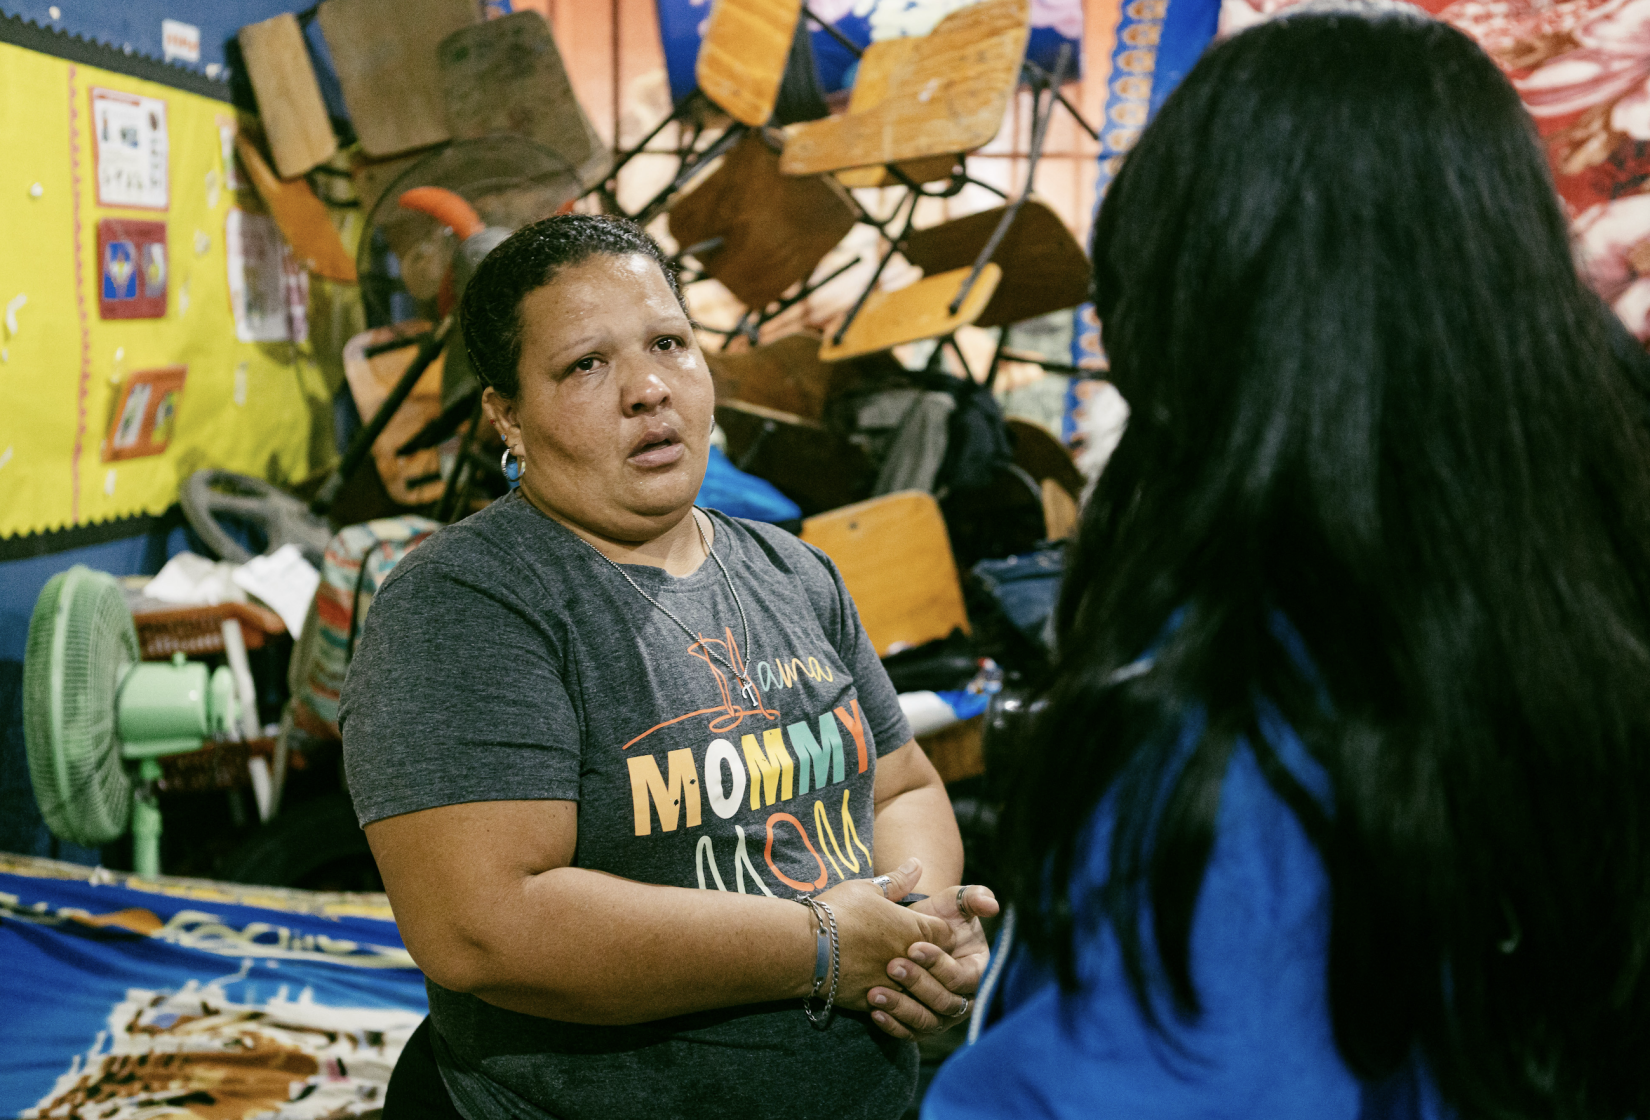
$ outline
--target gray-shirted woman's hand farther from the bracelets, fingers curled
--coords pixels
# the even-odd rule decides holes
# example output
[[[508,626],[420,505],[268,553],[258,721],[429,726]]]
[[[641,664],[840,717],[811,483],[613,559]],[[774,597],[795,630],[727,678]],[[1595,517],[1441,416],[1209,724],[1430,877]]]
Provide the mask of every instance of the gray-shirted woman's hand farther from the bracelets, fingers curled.
[[[954,945],[947,953],[929,942],[914,944],[906,957],[888,962],[888,975],[898,986],[866,993],[871,1019],[894,1038],[939,1034],[969,1016],[992,955],[980,919],[997,914],[998,906],[990,887],[965,886],[947,887],[911,909],[945,919]]]

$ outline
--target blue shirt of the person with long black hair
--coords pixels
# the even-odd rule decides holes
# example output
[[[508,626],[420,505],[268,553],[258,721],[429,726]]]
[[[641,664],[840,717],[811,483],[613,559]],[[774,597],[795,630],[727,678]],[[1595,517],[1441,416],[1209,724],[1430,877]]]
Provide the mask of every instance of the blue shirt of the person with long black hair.
[[[1307,790],[1325,798],[1322,769],[1275,709],[1261,708],[1261,731]],[[1200,734],[1200,721],[1188,726],[1181,749]],[[1107,795],[1084,836],[1076,891],[1104,881],[1114,816]],[[1328,891],[1300,821],[1239,741],[1193,915],[1190,963],[1201,1014],[1180,1018],[1160,993],[1157,1033],[1129,988],[1109,924],[1077,934],[1076,993],[1008,948],[998,983],[982,991],[982,1016],[997,1021],[939,1071],[922,1118],[1442,1120],[1449,1112],[1424,1075],[1407,1071],[1365,1085],[1335,1049]]]

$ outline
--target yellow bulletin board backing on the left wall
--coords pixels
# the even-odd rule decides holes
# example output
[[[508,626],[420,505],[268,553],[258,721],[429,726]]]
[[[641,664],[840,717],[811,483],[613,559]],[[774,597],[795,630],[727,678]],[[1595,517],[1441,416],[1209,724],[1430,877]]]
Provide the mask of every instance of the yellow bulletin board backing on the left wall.
[[[94,89],[165,101],[165,211],[99,205]],[[335,374],[307,343],[236,338],[226,223],[256,201],[229,190],[233,127],[228,102],[0,43],[0,538],[160,513],[203,467],[292,483],[335,459]],[[163,317],[101,317],[109,218],[167,223]],[[106,462],[124,381],[168,366],[188,373],[165,450]]]

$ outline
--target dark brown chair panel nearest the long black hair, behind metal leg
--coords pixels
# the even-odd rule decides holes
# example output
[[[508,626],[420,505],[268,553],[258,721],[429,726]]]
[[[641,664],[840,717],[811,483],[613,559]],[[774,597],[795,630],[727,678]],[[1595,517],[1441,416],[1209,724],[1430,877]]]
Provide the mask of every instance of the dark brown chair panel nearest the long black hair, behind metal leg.
[[[906,242],[906,259],[929,275],[972,266],[1003,209],[917,229]],[[1020,206],[992,261],[1003,266],[1003,282],[975,327],[1005,327],[1089,299],[1089,257],[1059,214],[1040,198],[1028,198]]]

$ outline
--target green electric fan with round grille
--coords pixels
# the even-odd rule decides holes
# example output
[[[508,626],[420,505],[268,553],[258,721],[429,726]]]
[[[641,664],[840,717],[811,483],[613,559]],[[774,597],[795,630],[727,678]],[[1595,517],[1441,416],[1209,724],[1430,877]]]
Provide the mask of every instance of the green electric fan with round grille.
[[[160,873],[160,759],[236,726],[234,676],[182,653],[139,660],[112,576],[76,564],[40,592],[23,660],[23,741],[35,800],[61,840],[96,848],[132,826],[132,866]]]

